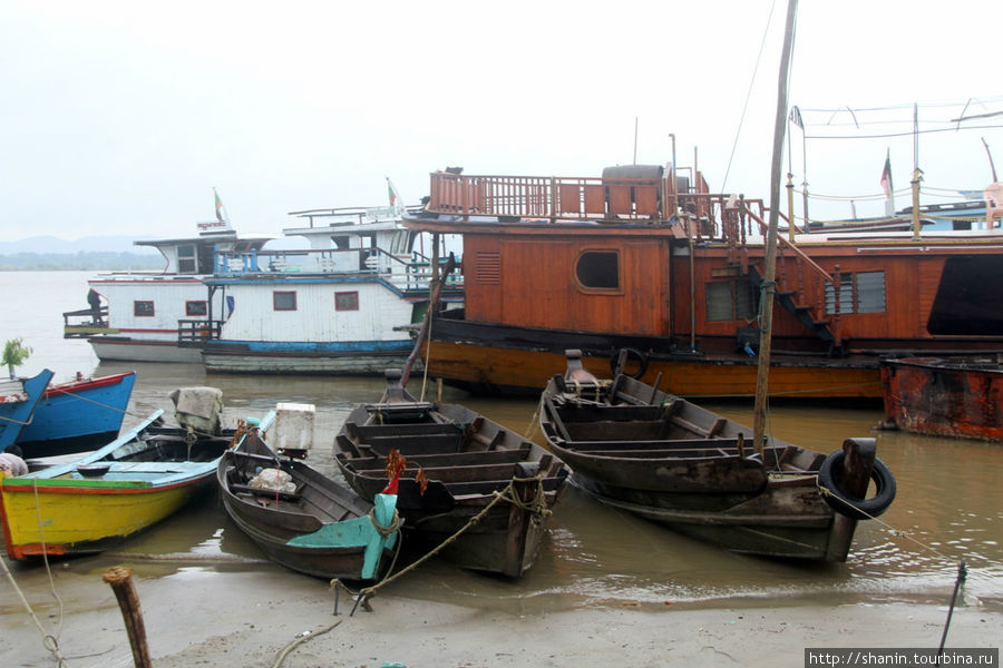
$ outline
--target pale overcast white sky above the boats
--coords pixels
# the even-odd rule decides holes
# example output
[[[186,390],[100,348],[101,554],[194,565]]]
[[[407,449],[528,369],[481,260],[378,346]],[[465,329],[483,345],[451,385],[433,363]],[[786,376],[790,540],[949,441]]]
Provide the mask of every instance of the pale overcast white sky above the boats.
[[[783,0],[3,0],[0,236],[186,236],[213,217],[213,187],[237,229],[277,233],[291,210],[386,204],[388,176],[407,204],[446,166],[598,176],[633,161],[635,119],[639,163],[671,160],[675,134],[679,164],[697,149],[712,189],[768,199],[786,10]],[[936,128],[966,104],[966,115],[999,111],[990,27],[1001,19],[999,0],[802,0],[790,102],[809,136],[887,134],[867,111],[886,107],[883,118],[908,132],[914,102]],[[810,111],[846,107],[854,114]],[[1003,132],[991,127],[1003,116],[965,126],[981,129],[921,137],[924,188],[987,185],[983,137],[1003,171]],[[913,169],[908,136],[795,131],[791,146],[798,183],[804,148],[809,189],[853,196],[860,215],[883,210],[866,197],[880,194],[886,150],[896,189]]]

